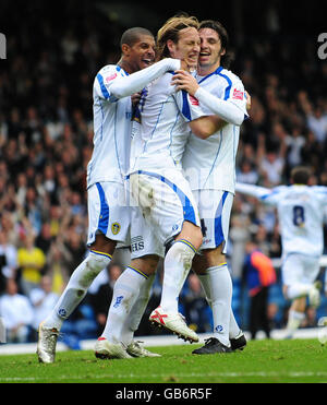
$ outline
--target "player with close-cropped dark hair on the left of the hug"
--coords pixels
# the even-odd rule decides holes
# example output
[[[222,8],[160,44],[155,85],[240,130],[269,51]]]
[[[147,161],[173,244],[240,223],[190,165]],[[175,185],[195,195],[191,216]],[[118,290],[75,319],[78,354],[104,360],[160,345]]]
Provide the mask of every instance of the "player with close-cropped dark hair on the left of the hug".
[[[94,87],[94,151],[87,166],[88,255],[74,270],[58,303],[39,326],[37,355],[53,362],[61,326],[85,297],[95,277],[106,269],[118,242],[126,242],[131,211],[125,201],[124,179],[130,165],[131,95],[166,71],[179,69],[179,60],[155,60],[155,39],[143,27],[128,29],[121,38],[121,59],[97,73]],[[150,249],[150,247],[149,247]],[[149,250],[150,253],[156,253]],[[153,267],[153,258],[128,267],[124,276],[137,286],[143,267]],[[130,270],[129,270],[130,269]],[[135,270],[136,269],[136,270]],[[125,356],[119,344],[114,355]]]

